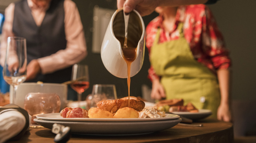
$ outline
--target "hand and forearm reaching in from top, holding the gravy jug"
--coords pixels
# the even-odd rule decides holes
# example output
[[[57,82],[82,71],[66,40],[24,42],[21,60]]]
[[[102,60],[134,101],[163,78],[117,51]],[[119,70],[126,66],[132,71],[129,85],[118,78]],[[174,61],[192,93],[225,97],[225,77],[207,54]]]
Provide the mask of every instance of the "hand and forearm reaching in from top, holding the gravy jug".
[[[159,6],[181,6],[194,4],[214,4],[218,0],[117,0],[117,8],[124,8],[124,12],[130,13],[137,10],[141,16],[151,14]]]

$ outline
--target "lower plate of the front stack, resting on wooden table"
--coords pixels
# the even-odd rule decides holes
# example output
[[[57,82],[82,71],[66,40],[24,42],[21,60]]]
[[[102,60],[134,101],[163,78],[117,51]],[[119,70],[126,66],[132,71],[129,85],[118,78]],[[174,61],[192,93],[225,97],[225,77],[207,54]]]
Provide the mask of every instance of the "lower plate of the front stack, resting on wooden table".
[[[73,134],[85,135],[140,135],[149,134],[157,131],[169,129],[179,122],[179,119],[171,120],[155,120],[155,121],[122,121],[122,122],[109,122],[109,121],[56,121],[56,120],[43,120],[34,119],[39,125],[52,129],[53,124],[62,124],[71,128]]]

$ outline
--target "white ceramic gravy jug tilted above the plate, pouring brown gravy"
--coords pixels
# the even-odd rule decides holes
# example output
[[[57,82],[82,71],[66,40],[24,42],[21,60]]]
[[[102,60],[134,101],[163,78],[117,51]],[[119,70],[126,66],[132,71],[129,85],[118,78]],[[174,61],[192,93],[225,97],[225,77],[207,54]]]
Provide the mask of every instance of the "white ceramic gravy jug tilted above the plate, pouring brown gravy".
[[[131,77],[140,71],[144,61],[145,25],[136,10],[130,13],[127,31],[128,48],[123,48],[125,38],[124,15],[122,9],[117,9],[111,17],[101,45],[101,59],[105,68],[119,78],[127,78],[125,60],[133,60],[130,71]]]

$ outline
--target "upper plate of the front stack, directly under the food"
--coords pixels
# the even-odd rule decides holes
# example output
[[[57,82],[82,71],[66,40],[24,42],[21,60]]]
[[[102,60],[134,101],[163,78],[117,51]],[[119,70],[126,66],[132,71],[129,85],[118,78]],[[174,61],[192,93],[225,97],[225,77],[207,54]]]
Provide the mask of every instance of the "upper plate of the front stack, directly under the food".
[[[179,115],[166,114],[163,118],[62,118],[59,113],[40,114],[36,118],[54,121],[87,121],[87,122],[139,122],[139,121],[160,121],[180,118]]]

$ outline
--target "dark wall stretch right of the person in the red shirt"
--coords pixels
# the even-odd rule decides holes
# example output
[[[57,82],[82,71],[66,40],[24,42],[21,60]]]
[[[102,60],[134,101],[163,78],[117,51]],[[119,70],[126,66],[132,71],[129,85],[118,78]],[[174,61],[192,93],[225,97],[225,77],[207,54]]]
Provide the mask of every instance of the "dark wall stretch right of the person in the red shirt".
[[[210,8],[232,58],[234,100],[256,100],[256,0],[220,0]]]

